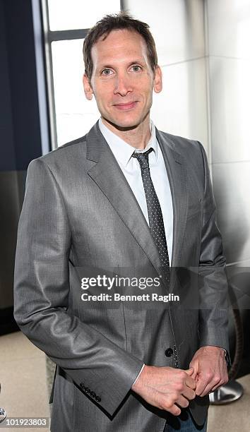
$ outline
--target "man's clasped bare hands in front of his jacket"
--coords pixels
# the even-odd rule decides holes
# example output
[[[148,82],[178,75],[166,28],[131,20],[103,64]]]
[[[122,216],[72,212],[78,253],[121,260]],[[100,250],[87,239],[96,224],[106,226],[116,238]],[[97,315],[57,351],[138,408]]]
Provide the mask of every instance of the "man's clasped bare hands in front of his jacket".
[[[190,400],[208,395],[227,381],[224,350],[208,346],[196,351],[186,371],[145,365],[132,390],[151,405],[179,416]]]

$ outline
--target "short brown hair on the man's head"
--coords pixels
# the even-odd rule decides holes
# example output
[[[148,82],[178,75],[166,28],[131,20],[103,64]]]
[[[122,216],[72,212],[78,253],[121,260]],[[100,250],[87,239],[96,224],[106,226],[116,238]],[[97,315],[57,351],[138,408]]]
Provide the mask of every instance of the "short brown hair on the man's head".
[[[100,21],[90,28],[88,35],[83,42],[83,60],[85,64],[85,74],[90,80],[93,73],[93,60],[91,56],[91,49],[93,45],[104,36],[105,40],[112,30],[131,30],[138,32],[139,35],[145,40],[148,49],[148,60],[153,71],[157,66],[157,52],[155,48],[155,41],[149,30],[149,25],[140,20],[134,19],[126,12],[115,13],[114,15],[106,15]]]

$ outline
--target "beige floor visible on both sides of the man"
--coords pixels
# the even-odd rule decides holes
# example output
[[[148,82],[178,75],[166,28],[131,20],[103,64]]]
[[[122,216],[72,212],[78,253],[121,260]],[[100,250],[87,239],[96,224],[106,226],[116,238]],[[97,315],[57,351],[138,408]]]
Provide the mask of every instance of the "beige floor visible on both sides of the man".
[[[21,332],[0,337],[0,407],[6,409],[8,418],[49,417],[47,379],[50,377],[47,378],[46,364],[44,353]],[[250,375],[238,381],[244,387],[244,395],[232,404],[210,407],[208,432],[250,431]],[[0,430],[16,432],[17,428],[0,427]],[[18,431],[32,432],[33,428],[18,428]],[[40,431],[49,432],[49,428]]]

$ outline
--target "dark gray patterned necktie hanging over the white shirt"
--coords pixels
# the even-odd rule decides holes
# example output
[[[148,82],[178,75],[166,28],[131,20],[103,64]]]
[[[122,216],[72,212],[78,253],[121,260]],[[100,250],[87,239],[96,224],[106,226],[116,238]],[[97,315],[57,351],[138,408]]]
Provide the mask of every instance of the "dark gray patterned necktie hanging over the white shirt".
[[[143,179],[143,187],[148,207],[150,232],[153,236],[153,239],[155,240],[160,261],[162,263],[162,272],[166,277],[167,286],[169,286],[169,257],[167,252],[167,241],[162,217],[162,209],[160,208],[160,203],[150,176],[150,168],[148,164],[148,155],[152,151],[153,148],[150,148],[143,153],[133,152],[132,156],[136,157],[141,167],[141,176]]]

